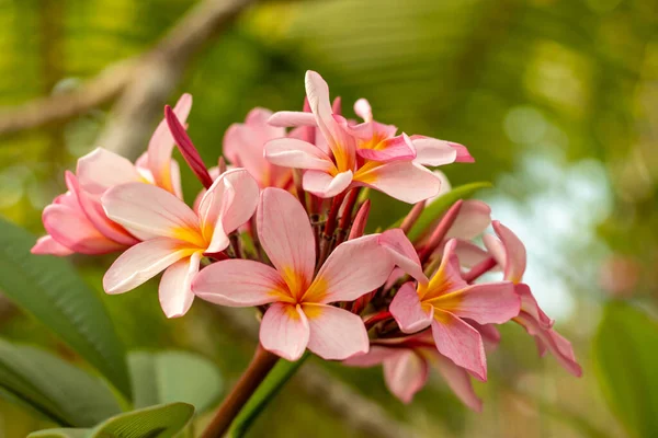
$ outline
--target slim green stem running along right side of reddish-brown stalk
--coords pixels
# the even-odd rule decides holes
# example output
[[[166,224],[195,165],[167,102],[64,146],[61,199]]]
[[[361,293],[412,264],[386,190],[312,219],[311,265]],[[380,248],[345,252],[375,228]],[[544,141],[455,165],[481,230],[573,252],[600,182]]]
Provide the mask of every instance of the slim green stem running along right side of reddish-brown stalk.
[[[276,396],[276,394],[279,394],[279,391],[281,391],[283,385],[309,357],[310,353],[306,351],[299,360],[294,362],[284,359],[279,360],[258,390],[251,395],[245,407],[242,407],[242,411],[240,411],[236,419],[231,423],[230,429],[228,430],[228,437],[243,437],[258,415]]]

